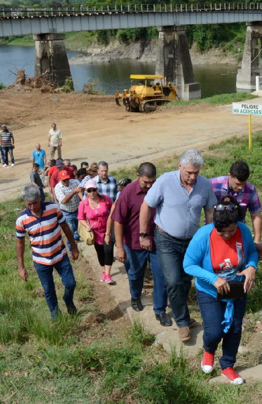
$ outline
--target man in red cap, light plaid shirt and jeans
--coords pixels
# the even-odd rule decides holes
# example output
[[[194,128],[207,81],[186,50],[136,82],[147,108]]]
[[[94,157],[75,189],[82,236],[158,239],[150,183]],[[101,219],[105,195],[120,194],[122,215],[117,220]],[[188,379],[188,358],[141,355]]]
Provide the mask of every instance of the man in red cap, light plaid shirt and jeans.
[[[55,186],[55,194],[66,222],[74,235],[74,239],[79,240],[77,214],[80,199],[83,199],[82,189],[79,188],[77,180],[70,179],[70,175],[66,170],[59,172],[59,178],[60,182]],[[69,240],[67,241],[67,245],[71,252]]]

